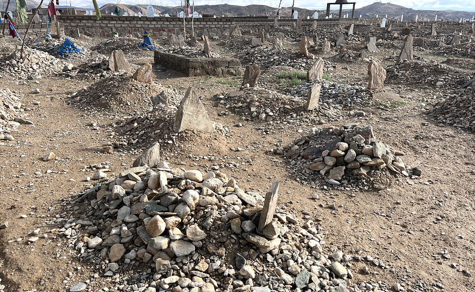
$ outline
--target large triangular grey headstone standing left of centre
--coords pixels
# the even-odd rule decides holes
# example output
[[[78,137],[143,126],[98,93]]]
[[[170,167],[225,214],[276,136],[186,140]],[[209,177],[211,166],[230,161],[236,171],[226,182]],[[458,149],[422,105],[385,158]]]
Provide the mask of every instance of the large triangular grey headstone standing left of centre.
[[[178,107],[173,129],[177,133],[186,129],[198,129],[210,133],[215,131],[208,112],[192,87],[188,88]]]

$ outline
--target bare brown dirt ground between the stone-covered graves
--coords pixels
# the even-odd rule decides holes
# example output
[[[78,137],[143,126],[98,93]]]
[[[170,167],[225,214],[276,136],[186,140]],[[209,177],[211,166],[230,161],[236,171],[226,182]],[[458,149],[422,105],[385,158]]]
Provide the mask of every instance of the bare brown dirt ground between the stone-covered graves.
[[[212,41],[211,45],[218,48],[219,42]],[[298,45],[285,44],[295,51]],[[372,57],[383,67],[394,65],[394,59],[385,58],[399,50],[380,50]],[[367,86],[367,61],[347,62],[333,58],[335,55],[316,55],[329,62],[326,78]],[[437,62],[447,58],[430,52],[422,55]],[[153,62],[152,52],[132,52],[126,58],[134,70]],[[452,67],[473,71],[473,58],[454,59]],[[289,67],[285,71],[296,70]],[[287,83],[290,80],[282,81],[274,78],[275,73],[266,72],[273,72],[272,67],[261,71],[264,81],[259,88],[285,94],[286,88],[292,87]],[[385,89],[399,93],[403,102],[367,100],[342,110],[335,119],[319,119],[318,123],[307,118],[307,110],[302,108],[294,117],[286,116],[285,123],[272,124],[244,120],[220,103],[220,95],[239,90],[242,75],[186,77],[157,67],[153,73],[153,82],[180,96],[189,86],[194,87],[210,119],[228,129],[214,133],[187,130],[173,139],[168,136],[167,140],[173,141],[162,143],[160,154],[170,167],[207,173],[218,165],[219,171],[234,178],[242,189],[261,194],[274,182],[281,182],[279,207],[293,210],[301,222],[318,222],[324,230],[326,249],[361,257],[347,262],[353,274],[351,287],[365,282],[362,290],[381,291],[372,284],[384,287],[385,283],[386,289],[394,291],[399,283],[405,291],[415,291],[416,286],[424,291],[475,291],[475,139],[473,133],[439,124],[427,114],[428,104],[442,98],[443,88],[402,78],[386,80]],[[404,74],[414,78],[420,72],[407,70]],[[34,123],[20,125],[18,132],[12,133],[14,141],[0,142],[0,223],[8,221],[8,227],[0,230],[0,284],[5,285],[4,291],[68,291],[66,287],[77,283],[87,283],[86,291],[99,291],[110,289],[114,281],[120,283],[126,275],[133,277],[137,271],[150,268],[137,263],[135,271],[120,271],[117,278],[104,277],[99,265],[78,257],[70,240],[58,236],[63,226],[45,223],[55,216],[70,219],[75,216],[74,207],[82,208],[80,203],[64,198],[93,186],[85,181],[94,173],[91,165],[102,164],[102,169],[108,169],[108,178],[117,177],[147,146],[129,143],[112,153],[103,150],[104,144],[117,137],[111,134],[119,130],[111,126],[114,121],[142,115],[147,108],[139,101],[134,110],[127,110],[125,105],[89,110],[75,107],[73,93],[91,83],[90,79],[54,74],[37,80],[18,80],[5,74],[0,79],[1,88],[22,94],[21,103]],[[39,93],[30,93],[36,88]],[[272,101],[273,96],[266,98]],[[365,115],[349,116],[351,110],[364,111]],[[273,153],[276,147],[293,144],[301,130],[340,128],[349,123],[371,125],[378,140],[404,153],[405,164],[421,168],[420,178],[391,173],[375,178],[383,186],[380,190],[369,182],[366,191],[341,190],[328,183],[312,185],[300,180],[290,172],[290,159]],[[43,161],[51,151],[56,159]],[[303,212],[309,212],[309,219]],[[29,242],[31,237],[39,239]]]

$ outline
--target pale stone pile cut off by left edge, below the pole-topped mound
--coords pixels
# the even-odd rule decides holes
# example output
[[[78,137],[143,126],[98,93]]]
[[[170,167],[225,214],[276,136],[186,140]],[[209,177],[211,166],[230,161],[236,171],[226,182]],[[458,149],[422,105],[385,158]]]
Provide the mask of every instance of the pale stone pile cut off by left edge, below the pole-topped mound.
[[[35,102],[35,104],[37,104]],[[8,88],[0,89],[0,141],[14,140],[12,132],[18,131],[21,124],[33,124],[25,119],[20,98]]]

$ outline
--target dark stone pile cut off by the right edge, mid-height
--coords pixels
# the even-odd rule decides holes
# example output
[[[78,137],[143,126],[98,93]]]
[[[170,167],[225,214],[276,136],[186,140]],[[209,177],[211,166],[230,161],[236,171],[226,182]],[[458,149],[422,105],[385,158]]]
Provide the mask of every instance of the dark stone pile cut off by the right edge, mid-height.
[[[475,131],[474,96],[475,83],[472,78],[460,90],[433,105],[428,113],[434,116],[436,123]]]

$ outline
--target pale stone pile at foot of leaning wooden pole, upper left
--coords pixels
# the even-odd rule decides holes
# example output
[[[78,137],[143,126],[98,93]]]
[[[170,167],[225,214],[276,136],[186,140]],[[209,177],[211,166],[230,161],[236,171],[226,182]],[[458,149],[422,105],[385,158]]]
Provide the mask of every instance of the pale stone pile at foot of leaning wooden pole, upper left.
[[[47,53],[24,48],[23,58],[19,58],[21,47],[17,47],[14,55],[8,61],[3,70],[14,75],[19,80],[34,80],[41,78],[41,74],[51,74],[60,72],[64,64],[54,56]]]

